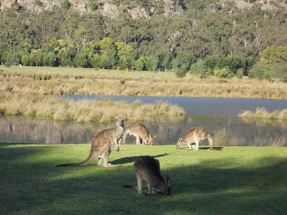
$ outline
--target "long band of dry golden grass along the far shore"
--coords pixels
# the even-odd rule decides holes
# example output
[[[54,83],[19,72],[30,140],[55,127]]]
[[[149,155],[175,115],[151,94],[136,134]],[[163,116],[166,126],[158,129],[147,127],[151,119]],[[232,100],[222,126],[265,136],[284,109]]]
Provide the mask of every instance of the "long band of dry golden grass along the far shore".
[[[0,90],[35,94],[152,95],[286,99],[287,83],[0,71]]]

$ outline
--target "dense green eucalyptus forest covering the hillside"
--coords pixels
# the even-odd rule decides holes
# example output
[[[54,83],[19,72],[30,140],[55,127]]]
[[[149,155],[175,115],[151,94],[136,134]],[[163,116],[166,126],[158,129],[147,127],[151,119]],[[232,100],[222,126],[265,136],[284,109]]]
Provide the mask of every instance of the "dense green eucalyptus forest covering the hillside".
[[[285,2],[177,0],[170,13],[158,1],[110,2],[150,12],[103,15],[104,2],[89,0],[83,13],[64,0],[35,13],[12,3],[0,11],[0,62],[287,81]]]

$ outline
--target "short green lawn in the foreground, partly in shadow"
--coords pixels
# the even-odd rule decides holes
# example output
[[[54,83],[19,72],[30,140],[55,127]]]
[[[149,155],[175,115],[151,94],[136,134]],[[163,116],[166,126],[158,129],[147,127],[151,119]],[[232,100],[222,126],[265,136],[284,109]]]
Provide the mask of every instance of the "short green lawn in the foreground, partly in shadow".
[[[90,145],[0,144],[1,214],[284,214],[287,148],[123,145],[109,162],[123,168],[55,167],[80,162]],[[136,184],[139,155],[159,159],[171,196],[143,196]],[[147,185],[144,183],[144,190]]]

